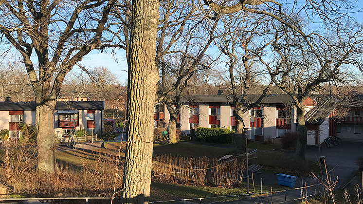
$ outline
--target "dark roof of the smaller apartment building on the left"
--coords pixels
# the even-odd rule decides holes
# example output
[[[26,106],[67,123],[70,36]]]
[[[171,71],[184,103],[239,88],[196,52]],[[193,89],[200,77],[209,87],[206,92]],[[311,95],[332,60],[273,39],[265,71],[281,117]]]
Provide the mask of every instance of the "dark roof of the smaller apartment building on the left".
[[[103,101],[57,101],[55,110],[103,110]],[[35,111],[36,103],[1,101],[0,111]]]

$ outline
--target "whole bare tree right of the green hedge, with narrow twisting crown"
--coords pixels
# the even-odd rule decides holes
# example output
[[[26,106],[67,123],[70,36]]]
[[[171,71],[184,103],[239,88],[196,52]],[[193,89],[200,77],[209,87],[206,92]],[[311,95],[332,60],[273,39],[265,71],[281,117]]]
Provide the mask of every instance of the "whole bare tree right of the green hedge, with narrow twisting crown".
[[[245,153],[243,114],[257,106],[273,84],[271,81],[261,93],[258,93],[259,96],[254,102],[247,101],[251,82],[256,74],[262,74],[254,69],[254,62],[270,42],[254,43],[267,31],[265,18],[249,14],[224,17],[222,19],[226,35],[218,38],[216,44],[227,58],[226,64],[236,111],[236,152]]]

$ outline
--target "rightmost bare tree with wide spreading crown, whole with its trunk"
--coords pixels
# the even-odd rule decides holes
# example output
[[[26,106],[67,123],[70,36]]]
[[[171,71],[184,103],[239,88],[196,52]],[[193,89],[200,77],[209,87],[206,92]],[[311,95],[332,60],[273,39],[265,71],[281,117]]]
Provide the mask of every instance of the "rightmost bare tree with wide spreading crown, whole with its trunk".
[[[296,19],[296,24],[301,23]],[[348,23],[348,22],[347,22]],[[363,26],[359,24],[336,24],[327,33],[315,32],[302,35],[299,26],[296,33],[288,26],[273,23],[273,61],[260,57],[269,70],[276,86],[289,94],[297,110],[298,142],[296,159],[305,159],[307,127],[305,125],[304,101],[325,83],[343,83],[349,78],[349,66],[361,67],[359,56],[363,53]],[[308,37],[309,36],[309,37]],[[346,66],[348,65],[349,66]]]

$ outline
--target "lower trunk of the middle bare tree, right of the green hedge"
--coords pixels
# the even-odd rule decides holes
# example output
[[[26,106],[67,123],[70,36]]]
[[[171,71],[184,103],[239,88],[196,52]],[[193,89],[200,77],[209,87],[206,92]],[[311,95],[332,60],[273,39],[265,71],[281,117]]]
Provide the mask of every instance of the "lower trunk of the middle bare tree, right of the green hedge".
[[[243,133],[243,129],[245,124],[242,119],[243,112],[241,110],[237,110],[236,108],[236,153],[243,154],[246,153],[246,143],[245,137]]]

